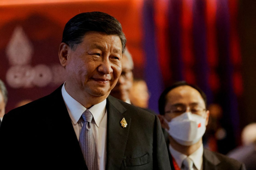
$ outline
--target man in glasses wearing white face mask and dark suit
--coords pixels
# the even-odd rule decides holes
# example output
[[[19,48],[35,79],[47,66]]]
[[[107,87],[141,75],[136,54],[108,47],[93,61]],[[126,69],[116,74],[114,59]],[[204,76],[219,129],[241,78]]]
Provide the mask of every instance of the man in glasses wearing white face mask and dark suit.
[[[177,82],[163,91],[158,104],[173,170],[245,170],[242,163],[203,148],[209,111],[200,88]]]

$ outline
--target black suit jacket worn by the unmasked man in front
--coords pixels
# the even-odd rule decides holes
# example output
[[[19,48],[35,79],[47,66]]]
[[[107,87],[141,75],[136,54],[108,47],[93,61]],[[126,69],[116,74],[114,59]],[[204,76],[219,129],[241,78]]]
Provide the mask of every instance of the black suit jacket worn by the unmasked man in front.
[[[106,107],[107,170],[171,169],[157,116],[112,96]],[[1,169],[87,169],[61,87],[5,114],[0,146]]]

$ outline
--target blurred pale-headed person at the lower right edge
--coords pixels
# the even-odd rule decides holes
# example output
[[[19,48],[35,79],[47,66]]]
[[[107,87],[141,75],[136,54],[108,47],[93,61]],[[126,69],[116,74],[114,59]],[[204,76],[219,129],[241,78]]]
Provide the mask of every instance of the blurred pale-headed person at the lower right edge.
[[[227,156],[243,162],[247,170],[256,170],[256,123],[246,125],[241,133],[242,146]]]

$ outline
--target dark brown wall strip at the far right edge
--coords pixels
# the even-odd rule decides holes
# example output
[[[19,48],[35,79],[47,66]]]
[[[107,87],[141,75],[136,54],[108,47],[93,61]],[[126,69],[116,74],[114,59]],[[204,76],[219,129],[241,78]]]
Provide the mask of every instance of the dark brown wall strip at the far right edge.
[[[256,122],[256,1],[239,1],[239,35],[242,52],[243,105],[242,126]]]

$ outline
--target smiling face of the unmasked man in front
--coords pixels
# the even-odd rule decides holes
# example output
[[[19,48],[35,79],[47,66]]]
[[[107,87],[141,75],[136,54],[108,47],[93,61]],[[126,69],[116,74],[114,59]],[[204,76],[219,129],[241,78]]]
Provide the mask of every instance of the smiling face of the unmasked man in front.
[[[62,64],[66,66],[66,86],[84,97],[107,97],[121,74],[121,60],[118,36],[87,32],[75,50],[69,48],[67,61]]]

